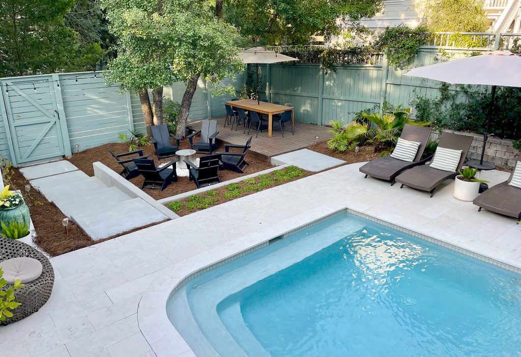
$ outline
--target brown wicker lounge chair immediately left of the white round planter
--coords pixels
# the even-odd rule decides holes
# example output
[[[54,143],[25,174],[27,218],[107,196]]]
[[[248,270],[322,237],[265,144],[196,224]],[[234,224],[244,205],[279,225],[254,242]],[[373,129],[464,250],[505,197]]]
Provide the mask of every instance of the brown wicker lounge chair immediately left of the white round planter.
[[[472,139],[473,137],[470,135],[443,132],[438,147],[462,150],[461,159],[457,165],[456,171],[450,172],[438,170],[431,168],[429,165],[417,166],[396,176],[396,182],[402,184],[400,188],[403,188],[405,185],[422,191],[427,191],[430,192],[430,197],[432,197],[436,187],[445,180],[454,179],[454,177],[458,175],[458,171],[463,166],[463,162],[467,157],[467,152],[472,143]]]

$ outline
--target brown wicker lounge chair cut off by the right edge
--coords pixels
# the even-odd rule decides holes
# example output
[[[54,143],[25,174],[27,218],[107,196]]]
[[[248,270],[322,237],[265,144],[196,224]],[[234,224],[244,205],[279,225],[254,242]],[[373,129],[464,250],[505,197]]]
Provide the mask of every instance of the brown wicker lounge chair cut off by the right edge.
[[[521,165],[521,154],[517,158],[516,165]],[[485,208],[488,211],[515,217],[518,221],[521,221],[521,188],[508,184],[512,180],[514,170],[512,170],[508,180],[490,187],[476,197],[473,203],[479,206],[478,211]]]

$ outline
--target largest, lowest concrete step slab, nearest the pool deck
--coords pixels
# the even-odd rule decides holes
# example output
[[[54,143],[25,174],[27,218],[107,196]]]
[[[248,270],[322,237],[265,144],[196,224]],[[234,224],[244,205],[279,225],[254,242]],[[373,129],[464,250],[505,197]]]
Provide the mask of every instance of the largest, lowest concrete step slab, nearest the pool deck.
[[[148,205],[141,198],[112,203],[103,208],[72,215],[93,240],[107,238],[147,224],[161,222],[168,217]]]

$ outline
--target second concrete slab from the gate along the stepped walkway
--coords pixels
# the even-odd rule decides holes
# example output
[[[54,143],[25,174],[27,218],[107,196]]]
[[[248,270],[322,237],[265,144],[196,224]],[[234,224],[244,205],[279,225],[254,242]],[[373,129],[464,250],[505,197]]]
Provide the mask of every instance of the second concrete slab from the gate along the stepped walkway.
[[[45,198],[52,202],[58,199],[71,199],[77,195],[93,193],[96,190],[107,188],[107,185],[96,177],[89,177],[81,171],[32,180],[31,185],[38,188]]]

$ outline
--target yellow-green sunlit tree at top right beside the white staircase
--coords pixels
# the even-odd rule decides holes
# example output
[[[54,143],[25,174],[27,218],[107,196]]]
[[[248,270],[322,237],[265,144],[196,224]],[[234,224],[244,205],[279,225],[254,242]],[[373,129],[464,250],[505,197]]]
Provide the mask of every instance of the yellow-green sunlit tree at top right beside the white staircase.
[[[429,0],[421,12],[431,31],[485,32],[489,28],[483,4],[476,0]]]

